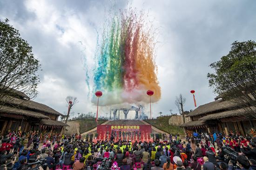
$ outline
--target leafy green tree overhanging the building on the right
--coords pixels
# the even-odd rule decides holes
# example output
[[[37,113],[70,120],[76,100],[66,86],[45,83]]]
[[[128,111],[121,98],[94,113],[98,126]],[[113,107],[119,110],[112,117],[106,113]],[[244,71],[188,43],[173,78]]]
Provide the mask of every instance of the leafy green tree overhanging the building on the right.
[[[243,107],[249,119],[256,119],[256,43],[235,41],[229,54],[210,64],[209,86],[225,100]]]

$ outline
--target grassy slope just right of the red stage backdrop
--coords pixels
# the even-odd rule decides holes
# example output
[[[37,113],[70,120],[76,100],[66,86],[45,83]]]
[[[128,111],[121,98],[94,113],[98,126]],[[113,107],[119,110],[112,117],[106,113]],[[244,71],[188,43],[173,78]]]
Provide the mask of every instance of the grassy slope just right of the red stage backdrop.
[[[171,116],[163,116],[163,117],[158,117],[157,119],[152,120],[152,126],[155,126],[156,128],[167,132],[167,133],[172,133],[172,134],[181,134],[184,135],[183,128],[180,126],[172,126],[169,125],[169,119]],[[149,124],[151,123],[150,120],[144,120],[148,122]]]

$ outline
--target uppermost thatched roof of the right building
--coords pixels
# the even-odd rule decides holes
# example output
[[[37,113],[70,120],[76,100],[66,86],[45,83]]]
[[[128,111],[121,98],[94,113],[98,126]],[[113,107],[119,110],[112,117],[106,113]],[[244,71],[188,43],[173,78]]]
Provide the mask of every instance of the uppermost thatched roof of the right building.
[[[216,101],[212,101],[210,103],[201,105],[197,107],[195,110],[186,115],[188,116],[197,116],[201,114],[214,113],[219,111],[227,111],[237,108],[239,105],[232,101],[224,101],[223,99],[219,99]]]

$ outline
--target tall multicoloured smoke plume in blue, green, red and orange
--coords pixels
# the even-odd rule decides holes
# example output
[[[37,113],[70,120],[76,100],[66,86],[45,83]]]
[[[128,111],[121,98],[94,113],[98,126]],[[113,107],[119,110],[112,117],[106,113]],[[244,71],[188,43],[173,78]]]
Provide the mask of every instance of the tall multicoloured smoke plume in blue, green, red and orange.
[[[99,105],[149,103],[148,89],[154,91],[152,102],[160,99],[154,31],[143,14],[128,10],[113,16],[99,45],[93,76],[94,91],[103,92]]]

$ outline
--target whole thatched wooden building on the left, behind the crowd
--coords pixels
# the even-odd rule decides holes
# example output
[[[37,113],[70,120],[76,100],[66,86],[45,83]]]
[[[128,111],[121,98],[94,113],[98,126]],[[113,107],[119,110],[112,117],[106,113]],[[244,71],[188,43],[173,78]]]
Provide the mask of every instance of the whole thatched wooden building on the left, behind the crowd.
[[[61,113],[42,103],[31,101],[18,91],[7,88],[0,97],[0,134],[8,131],[61,132],[67,124],[58,121]]]

